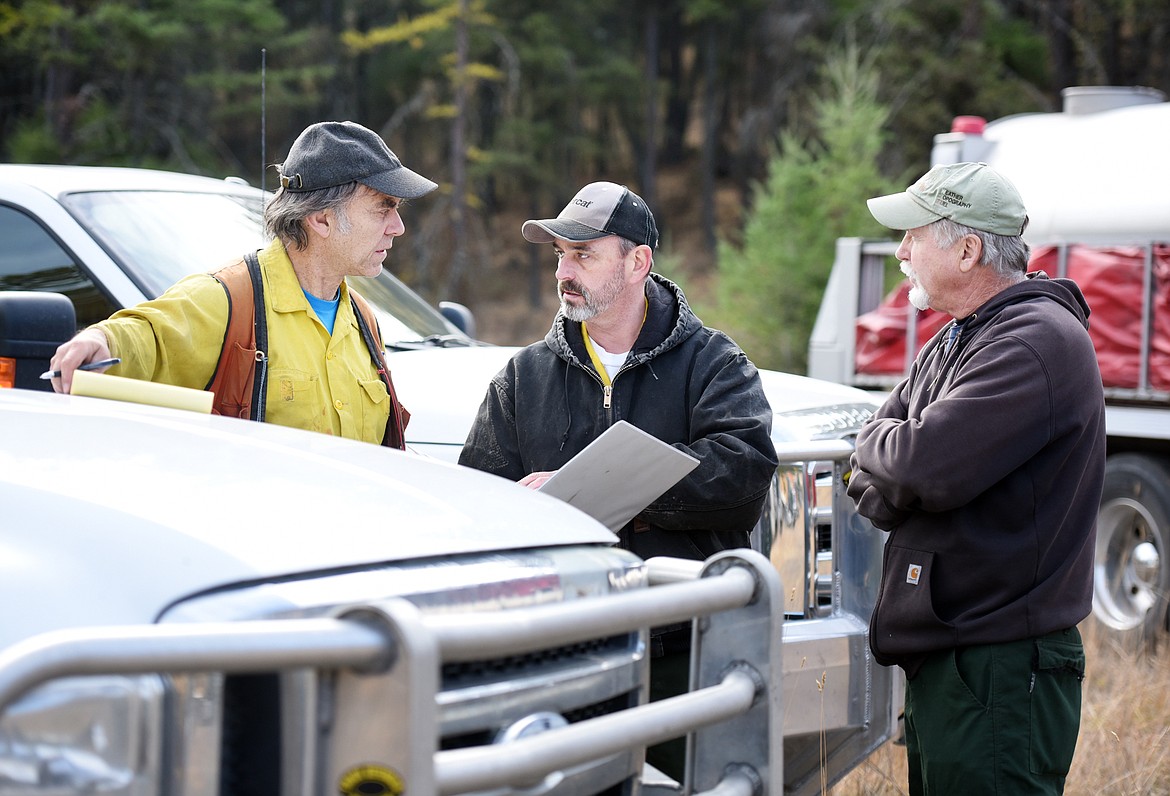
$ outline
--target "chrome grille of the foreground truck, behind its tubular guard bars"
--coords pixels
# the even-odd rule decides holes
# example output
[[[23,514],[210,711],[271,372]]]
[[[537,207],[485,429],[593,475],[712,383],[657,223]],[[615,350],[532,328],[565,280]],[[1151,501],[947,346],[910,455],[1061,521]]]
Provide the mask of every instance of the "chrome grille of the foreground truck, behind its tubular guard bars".
[[[624,550],[556,548],[260,584],[192,599],[176,606],[165,620],[308,618],[399,597],[424,615],[475,613],[645,585],[641,562]],[[534,714],[553,713],[573,723],[629,708],[645,693],[645,638],[635,632],[524,654],[445,663],[435,673],[440,684],[432,708],[435,748],[494,743],[503,730]],[[204,677],[215,681],[211,688],[200,689],[183,675],[173,678],[173,713],[180,726],[174,728],[168,754],[176,761],[172,792],[179,796],[315,796],[319,790],[309,777],[338,742],[330,739],[342,719],[350,728],[357,721],[372,736],[387,739],[378,748],[392,748],[395,733],[414,732],[393,704],[353,704],[352,695],[345,695],[352,692],[339,687],[342,678],[329,672]],[[192,696],[200,691],[216,696]],[[214,728],[193,732],[198,714],[212,715]],[[205,760],[211,749],[214,760]],[[624,787],[635,773],[633,757],[610,759],[574,774],[579,782],[566,792]],[[208,777],[219,783],[214,791],[207,788]]]

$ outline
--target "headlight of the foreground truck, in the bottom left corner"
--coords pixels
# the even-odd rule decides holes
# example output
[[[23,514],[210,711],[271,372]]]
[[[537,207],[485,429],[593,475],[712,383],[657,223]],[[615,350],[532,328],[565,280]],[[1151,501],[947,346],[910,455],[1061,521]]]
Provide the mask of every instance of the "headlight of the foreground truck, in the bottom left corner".
[[[0,795],[160,790],[157,677],[55,680],[0,716]]]

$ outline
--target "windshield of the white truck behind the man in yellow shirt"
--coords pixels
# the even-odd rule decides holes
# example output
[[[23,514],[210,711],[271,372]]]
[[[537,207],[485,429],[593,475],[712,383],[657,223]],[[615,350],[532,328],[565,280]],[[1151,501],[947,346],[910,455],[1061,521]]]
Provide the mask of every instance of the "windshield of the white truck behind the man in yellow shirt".
[[[87,191],[63,201],[143,293],[157,296],[187,274],[213,270],[266,245],[260,191],[232,188]],[[351,286],[374,306],[390,345],[470,342],[385,270],[372,280],[351,277]]]

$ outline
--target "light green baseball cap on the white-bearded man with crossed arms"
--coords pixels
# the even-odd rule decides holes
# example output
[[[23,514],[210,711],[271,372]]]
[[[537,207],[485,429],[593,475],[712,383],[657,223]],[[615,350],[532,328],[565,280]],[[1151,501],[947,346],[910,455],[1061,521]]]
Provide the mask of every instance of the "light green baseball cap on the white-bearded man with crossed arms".
[[[997,235],[1021,235],[1027,211],[1011,180],[985,163],[935,166],[902,193],[869,199],[869,212],[892,229],[950,219]]]

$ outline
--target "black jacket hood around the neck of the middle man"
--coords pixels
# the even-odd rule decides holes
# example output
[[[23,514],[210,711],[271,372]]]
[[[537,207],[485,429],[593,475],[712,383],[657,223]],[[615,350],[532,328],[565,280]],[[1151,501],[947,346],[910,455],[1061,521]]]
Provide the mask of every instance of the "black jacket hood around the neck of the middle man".
[[[626,366],[641,364],[667,351],[702,329],[703,323],[690,309],[682,288],[660,274],[646,280],[646,322],[634,341]],[[544,336],[545,344],[562,359],[579,368],[589,359],[581,337],[581,327],[557,310],[552,328]]]

